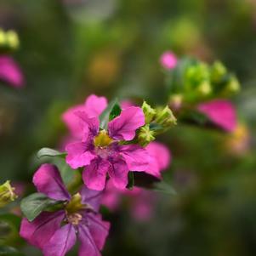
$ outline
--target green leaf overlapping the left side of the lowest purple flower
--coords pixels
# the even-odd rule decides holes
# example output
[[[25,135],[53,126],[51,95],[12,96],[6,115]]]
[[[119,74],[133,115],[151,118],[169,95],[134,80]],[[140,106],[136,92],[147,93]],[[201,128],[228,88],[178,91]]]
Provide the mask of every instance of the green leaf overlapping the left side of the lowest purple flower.
[[[44,209],[58,203],[60,202],[50,199],[41,193],[34,193],[20,202],[20,208],[26,219],[33,221]]]

